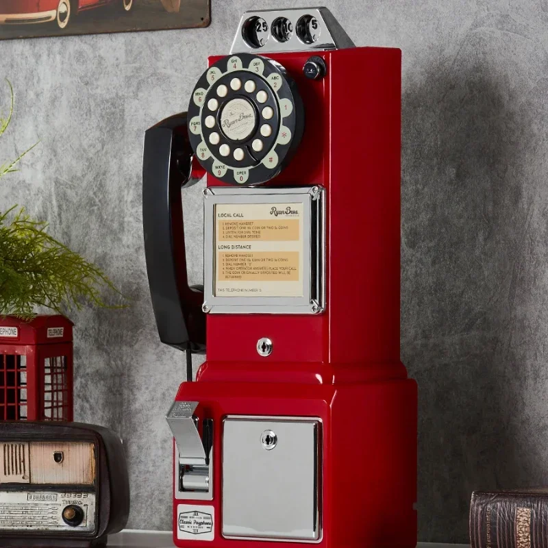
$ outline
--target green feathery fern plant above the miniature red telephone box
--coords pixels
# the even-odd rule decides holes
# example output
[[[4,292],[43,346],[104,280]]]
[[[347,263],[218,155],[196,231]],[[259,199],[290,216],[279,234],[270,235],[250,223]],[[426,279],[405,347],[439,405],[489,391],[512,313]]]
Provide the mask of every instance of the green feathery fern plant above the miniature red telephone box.
[[[14,92],[10,87],[8,116],[0,114],[0,137],[10,125],[14,111]],[[38,143],[36,143],[38,145]],[[17,164],[36,145],[18,158],[0,165],[0,179],[17,170]],[[0,316],[16,316],[29,320],[36,316],[38,306],[59,314],[85,303],[99,307],[109,305],[101,297],[105,288],[123,299],[119,290],[94,264],[71,251],[47,232],[45,221],[35,221],[25,208],[13,206],[0,211]]]

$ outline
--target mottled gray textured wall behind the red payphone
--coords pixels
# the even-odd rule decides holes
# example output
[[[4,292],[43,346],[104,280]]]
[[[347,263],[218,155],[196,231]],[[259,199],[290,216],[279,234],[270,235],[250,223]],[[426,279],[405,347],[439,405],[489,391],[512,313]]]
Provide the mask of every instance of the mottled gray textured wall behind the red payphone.
[[[0,158],[41,140],[3,182],[0,209],[48,219],[133,299],[73,319],[76,416],[123,435],[134,528],[171,526],[162,417],[184,375],[182,354],[158,343],[147,293],[143,132],[186,108],[206,55],[227,53],[258,5],[214,0],[208,29],[0,42],[17,99]],[[464,542],[473,488],[547,483],[548,3],[329,7],[358,45],[403,50],[401,340],[421,397],[420,537]],[[194,282],[198,203],[196,188]]]

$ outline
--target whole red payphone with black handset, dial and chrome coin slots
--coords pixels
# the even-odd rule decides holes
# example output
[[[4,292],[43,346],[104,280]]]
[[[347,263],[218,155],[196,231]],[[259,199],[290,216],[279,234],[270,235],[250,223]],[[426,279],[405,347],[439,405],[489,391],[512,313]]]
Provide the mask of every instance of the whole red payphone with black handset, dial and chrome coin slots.
[[[325,8],[247,12],[188,113],[147,131],[160,338],[207,358],[167,414],[177,546],[416,545],[400,103],[398,49],[354,47]],[[188,286],[180,194],[196,160],[203,288]]]

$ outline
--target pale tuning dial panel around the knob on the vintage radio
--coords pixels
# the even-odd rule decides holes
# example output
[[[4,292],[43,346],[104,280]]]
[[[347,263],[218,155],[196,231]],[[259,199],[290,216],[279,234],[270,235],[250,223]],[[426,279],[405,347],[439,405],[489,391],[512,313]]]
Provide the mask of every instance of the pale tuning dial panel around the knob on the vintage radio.
[[[84,520],[64,523],[65,506],[80,506]],[[95,493],[69,491],[0,491],[0,531],[95,531]]]

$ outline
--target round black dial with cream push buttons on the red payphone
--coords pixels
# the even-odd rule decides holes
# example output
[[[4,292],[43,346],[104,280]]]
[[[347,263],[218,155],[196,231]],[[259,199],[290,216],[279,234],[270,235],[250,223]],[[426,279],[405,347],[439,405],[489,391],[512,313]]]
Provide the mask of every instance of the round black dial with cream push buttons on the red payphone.
[[[202,166],[229,184],[275,177],[303,132],[295,83],[272,60],[240,53],[199,79],[188,106],[190,144]]]

